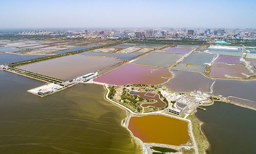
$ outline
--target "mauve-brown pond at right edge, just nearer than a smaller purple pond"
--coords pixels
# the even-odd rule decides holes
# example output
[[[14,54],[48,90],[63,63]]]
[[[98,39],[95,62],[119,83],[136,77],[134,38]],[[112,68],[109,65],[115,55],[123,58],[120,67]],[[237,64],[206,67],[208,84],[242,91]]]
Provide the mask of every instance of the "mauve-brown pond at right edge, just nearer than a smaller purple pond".
[[[241,64],[213,63],[210,70],[210,77],[216,78],[248,78],[256,75]]]

